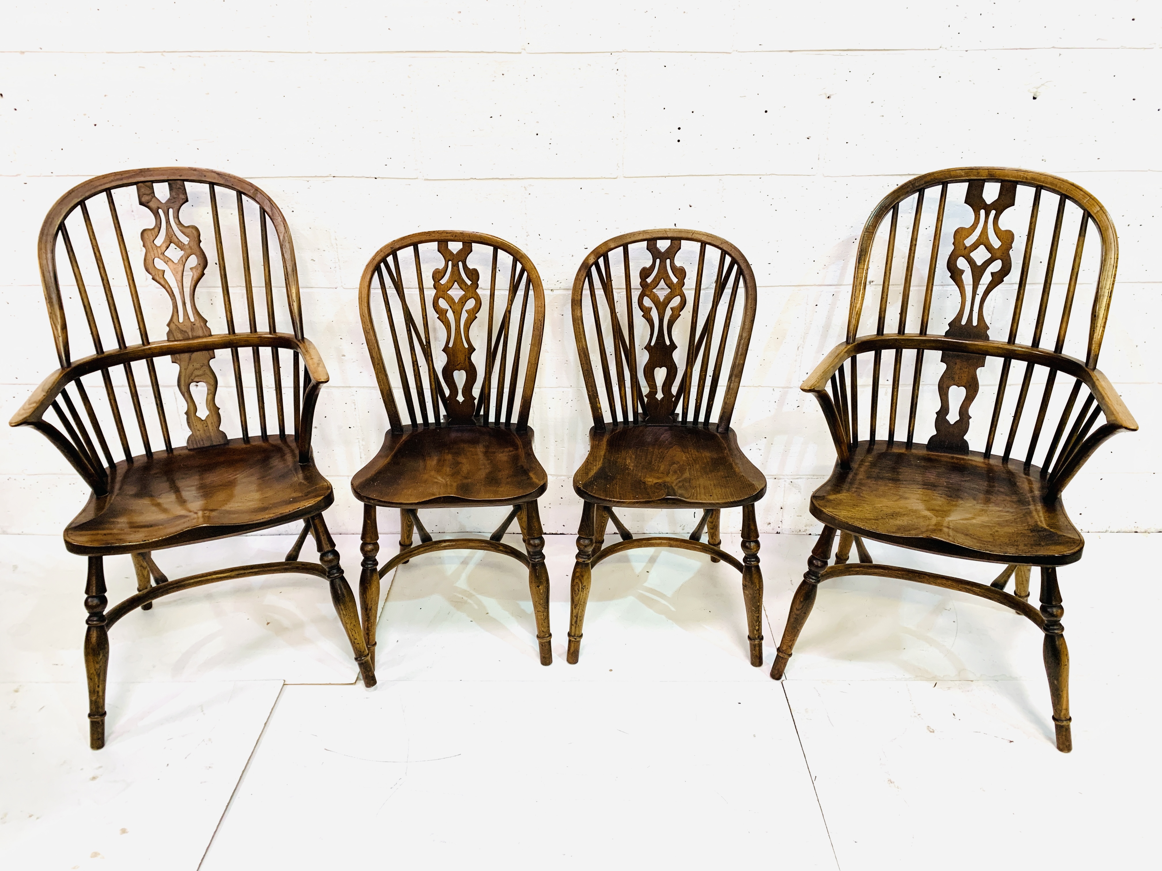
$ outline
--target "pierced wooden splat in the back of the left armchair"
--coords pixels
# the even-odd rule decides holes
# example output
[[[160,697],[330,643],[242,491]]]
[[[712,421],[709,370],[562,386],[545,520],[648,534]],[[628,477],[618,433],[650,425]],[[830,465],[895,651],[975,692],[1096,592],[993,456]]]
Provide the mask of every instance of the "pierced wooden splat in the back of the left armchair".
[[[194,301],[198,282],[206,273],[206,252],[202,250],[199,229],[182,224],[178,218],[181,207],[188,202],[185,182],[171,181],[168,185],[170,197],[164,202],[157,197],[152,182],[143,181],[137,185],[137,202],[153,213],[153,226],[142,230],[145,271],[170,295],[170,303],[173,305],[166,338],[196,339],[211,334]],[[170,273],[168,279],[166,272]],[[214,354],[214,351],[199,351],[195,354],[174,354],[170,358],[178,365],[178,390],[186,401],[186,423],[189,425],[186,447],[189,448],[227,442],[221,429],[222,415],[214,402],[217,393],[217,375],[210,366]],[[199,383],[206,386],[205,417],[198,413],[199,403],[192,390],[192,386]]]

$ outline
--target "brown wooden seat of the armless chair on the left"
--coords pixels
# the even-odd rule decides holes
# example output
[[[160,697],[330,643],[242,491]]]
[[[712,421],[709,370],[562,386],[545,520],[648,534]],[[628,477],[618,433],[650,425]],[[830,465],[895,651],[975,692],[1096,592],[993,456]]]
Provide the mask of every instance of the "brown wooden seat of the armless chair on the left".
[[[381,508],[512,505],[548,485],[532,453],[532,430],[507,426],[403,426],[351,480],[364,503]]]

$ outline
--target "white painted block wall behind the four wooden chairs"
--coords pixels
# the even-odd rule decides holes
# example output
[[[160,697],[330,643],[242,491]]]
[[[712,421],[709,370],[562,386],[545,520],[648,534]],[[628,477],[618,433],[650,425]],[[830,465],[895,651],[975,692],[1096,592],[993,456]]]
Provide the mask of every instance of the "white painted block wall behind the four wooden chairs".
[[[349,481],[385,424],[360,272],[397,236],[452,226],[512,240],[544,278],[541,516],[572,533],[588,427],[573,274],[610,236],[689,226],[737,244],[761,286],[736,422],[770,480],[762,531],[813,531],[806,501],[833,452],[797,388],[841,338],[863,219],[920,172],[1021,166],[1091,190],[1121,239],[1102,359],[1142,431],[1090,461],[1071,513],[1084,531],[1162,530],[1160,46],[1148,0],[13,3],[0,19],[3,415],[56,368],[35,258],[56,197],[113,170],[225,170],[266,189],[294,232],[308,334],[332,375],[315,440],[338,495],[332,528],[358,532]],[[59,534],[85,487],[35,433],[0,439],[0,532]],[[493,513],[432,526],[492,528]],[[626,520],[677,531],[693,512]]]

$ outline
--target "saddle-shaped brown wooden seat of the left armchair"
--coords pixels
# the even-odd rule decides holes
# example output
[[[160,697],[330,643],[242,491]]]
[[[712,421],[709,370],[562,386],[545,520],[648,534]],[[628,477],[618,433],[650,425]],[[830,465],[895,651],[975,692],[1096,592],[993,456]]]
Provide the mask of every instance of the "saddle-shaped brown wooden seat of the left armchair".
[[[109,494],[91,496],[65,530],[71,553],[160,550],[289,523],[333,502],[315,466],[299,465],[293,438],[135,456],[109,478]]]

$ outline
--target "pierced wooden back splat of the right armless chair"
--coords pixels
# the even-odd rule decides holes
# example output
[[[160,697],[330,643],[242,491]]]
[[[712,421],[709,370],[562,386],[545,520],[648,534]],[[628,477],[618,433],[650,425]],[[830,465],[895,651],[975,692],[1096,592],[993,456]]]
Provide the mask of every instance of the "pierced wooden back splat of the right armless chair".
[[[641,317],[650,324],[650,338],[644,346],[646,361],[643,375],[648,388],[644,398],[647,420],[651,423],[672,423],[677,406],[674,390],[679,369],[674,359],[677,350],[674,323],[686,308],[686,268],[674,262],[674,258],[681,247],[682,240],[673,239],[665,251],[659,251],[658,242],[651,239],[646,243],[646,251],[652,258],[650,266],[643,267],[639,273],[641,293],[638,294],[638,308]],[[666,295],[660,297],[657,288],[662,282],[666,285]],[[658,369],[666,373],[661,384],[658,383]]]

